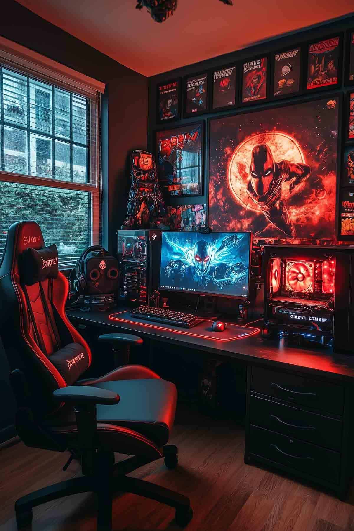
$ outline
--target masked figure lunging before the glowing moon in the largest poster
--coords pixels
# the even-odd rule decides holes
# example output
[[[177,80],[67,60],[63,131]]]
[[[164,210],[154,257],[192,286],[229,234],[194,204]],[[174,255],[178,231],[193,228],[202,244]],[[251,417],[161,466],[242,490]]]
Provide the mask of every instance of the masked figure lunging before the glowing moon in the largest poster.
[[[265,218],[287,237],[296,237],[296,230],[286,205],[281,200],[282,185],[291,181],[289,192],[307,178],[311,169],[307,164],[281,160],[275,162],[266,144],[257,144],[252,150],[250,178],[247,193],[261,208]]]

